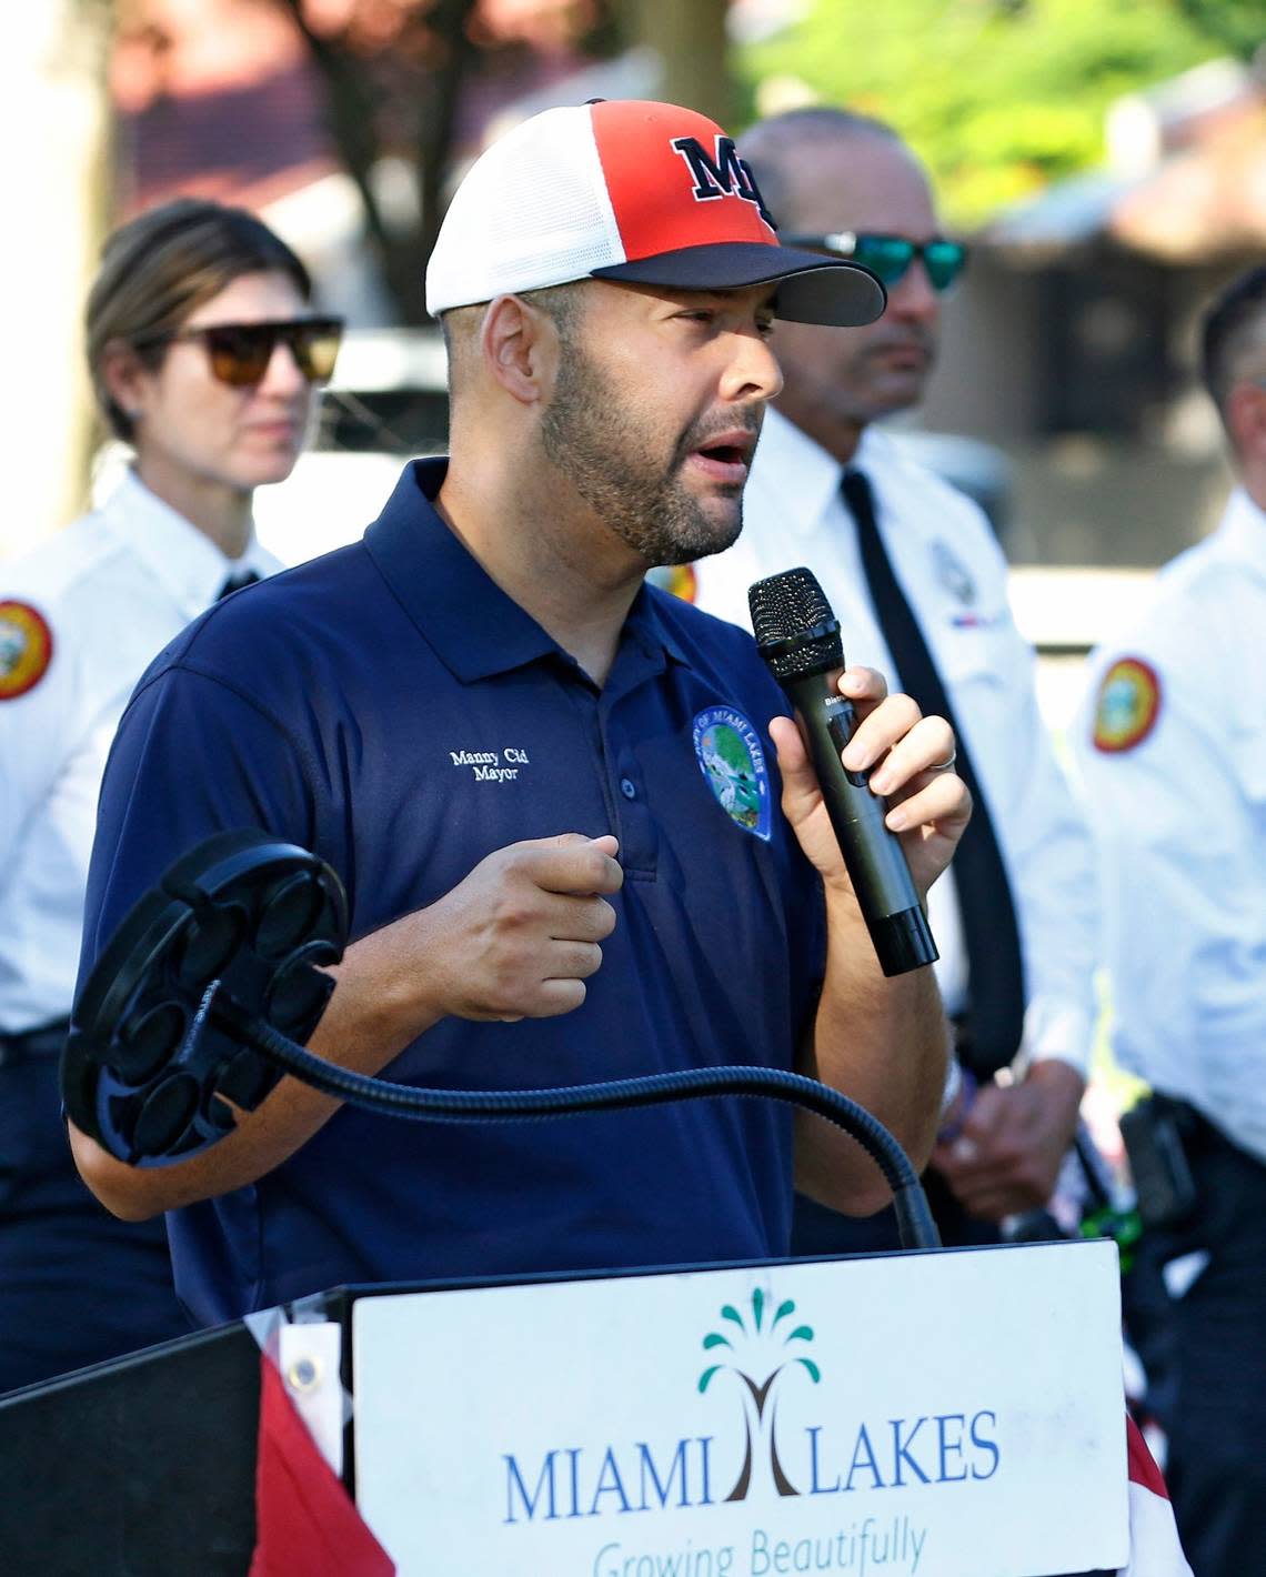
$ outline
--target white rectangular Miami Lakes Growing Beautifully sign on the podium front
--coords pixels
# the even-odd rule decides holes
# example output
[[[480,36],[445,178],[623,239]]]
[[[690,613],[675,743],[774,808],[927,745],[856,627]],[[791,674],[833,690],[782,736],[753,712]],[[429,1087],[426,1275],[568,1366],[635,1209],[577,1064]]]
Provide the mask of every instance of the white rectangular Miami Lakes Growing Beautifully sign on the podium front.
[[[402,1577],[1048,1577],[1127,1560],[1116,1246],[361,1298]]]

